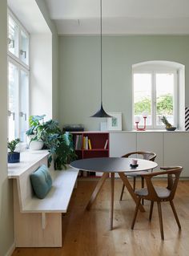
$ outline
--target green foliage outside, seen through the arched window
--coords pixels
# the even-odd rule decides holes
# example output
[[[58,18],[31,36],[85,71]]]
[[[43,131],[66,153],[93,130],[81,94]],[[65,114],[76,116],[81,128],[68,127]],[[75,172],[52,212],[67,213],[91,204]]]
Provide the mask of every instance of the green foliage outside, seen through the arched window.
[[[151,100],[145,98],[135,103],[135,115],[140,115],[143,111],[151,113]],[[173,98],[171,94],[160,96],[157,99],[157,114],[171,115],[173,112]]]

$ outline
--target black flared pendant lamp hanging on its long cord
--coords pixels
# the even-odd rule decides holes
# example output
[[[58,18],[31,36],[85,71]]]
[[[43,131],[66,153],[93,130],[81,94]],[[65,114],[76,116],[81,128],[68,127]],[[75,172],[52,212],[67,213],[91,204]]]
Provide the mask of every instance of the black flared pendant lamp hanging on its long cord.
[[[103,58],[102,58],[102,0],[100,0],[100,98],[101,98],[101,106],[98,112],[96,112],[93,116],[90,117],[112,117],[105,112],[103,109]]]

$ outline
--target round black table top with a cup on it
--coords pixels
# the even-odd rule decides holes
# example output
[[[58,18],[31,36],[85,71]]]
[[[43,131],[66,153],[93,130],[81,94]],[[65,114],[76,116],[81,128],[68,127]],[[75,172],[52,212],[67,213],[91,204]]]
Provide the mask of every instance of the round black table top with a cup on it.
[[[133,173],[140,172],[149,169],[154,169],[158,166],[153,161],[147,161],[143,159],[138,160],[138,167],[131,168],[131,158],[124,157],[97,157],[86,158],[70,163],[71,167],[75,169],[81,169],[89,172],[101,172],[101,173]]]

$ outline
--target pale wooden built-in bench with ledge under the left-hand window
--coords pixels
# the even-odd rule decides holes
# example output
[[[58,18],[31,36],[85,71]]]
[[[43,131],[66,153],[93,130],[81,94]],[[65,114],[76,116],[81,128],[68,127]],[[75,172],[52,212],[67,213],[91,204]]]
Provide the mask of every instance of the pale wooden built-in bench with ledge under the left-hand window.
[[[14,182],[14,238],[16,247],[62,246],[62,213],[66,213],[78,171],[50,170],[52,188],[44,199],[34,196],[30,173],[47,165],[47,151],[22,152],[21,161],[9,164]]]

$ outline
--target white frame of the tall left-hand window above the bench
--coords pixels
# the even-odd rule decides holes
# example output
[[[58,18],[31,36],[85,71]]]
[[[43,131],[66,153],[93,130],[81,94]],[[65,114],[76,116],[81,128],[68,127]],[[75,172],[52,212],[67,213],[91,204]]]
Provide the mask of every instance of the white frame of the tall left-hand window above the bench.
[[[26,72],[26,74],[28,75],[28,112],[26,113],[26,118],[27,120],[29,120],[29,116],[30,116],[30,35],[27,32],[26,28],[24,26],[22,26],[21,22],[19,22],[18,18],[16,18],[16,16],[12,13],[12,11],[10,9],[7,10],[7,35],[8,35],[8,30],[9,30],[9,16],[14,20],[14,22],[18,25],[18,57],[14,54],[12,54],[9,51],[9,47],[8,47],[8,43],[7,43],[7,69],[9,70],[9,63],[12,63],[14,66],[16,66],[18,68],[18,122],[17,122],[17,129],[18,129],[18,137],[21,136],[21,118],[20,118],[20,113],[21,113],[21,71]],[[21,55],[20,55],[20,50],[21,50],[21,31],[23,31],[27,38],[28,38],[28,64],[24,63],[21,59]],[[8,80],[9,80],[9,73],[8,73]],[[9,83],[8,83],[8,90],[9,90]],[[8,93],[9,95],[9,93]],[[9,99],[8,99],[8,104],[9,104]],[[8,116],[9,118],[9,116]],[[24,118],[24,117],[22,117]],[[27,122],[27,125],[28,122]],[[24,142],[23,144],[26,144],[26,142]]]

